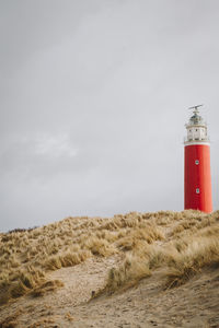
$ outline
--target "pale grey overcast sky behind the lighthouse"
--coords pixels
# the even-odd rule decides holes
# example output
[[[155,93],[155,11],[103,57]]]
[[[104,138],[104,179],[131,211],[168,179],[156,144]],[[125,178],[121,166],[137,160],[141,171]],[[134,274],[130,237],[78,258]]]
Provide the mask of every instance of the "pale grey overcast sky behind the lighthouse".
[[[218,0],[0,0],[0,231],[181,211],[205,104],[219,209]]]

